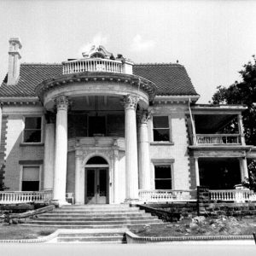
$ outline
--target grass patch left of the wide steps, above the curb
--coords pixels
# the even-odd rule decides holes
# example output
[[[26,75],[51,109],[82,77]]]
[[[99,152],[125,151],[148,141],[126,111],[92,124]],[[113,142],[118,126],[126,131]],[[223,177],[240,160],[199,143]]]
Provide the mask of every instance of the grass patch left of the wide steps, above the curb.
[[[35,239],[49,236],[56,229],[49,227],[26,227],[19,224],[0,224],[0,240]]]

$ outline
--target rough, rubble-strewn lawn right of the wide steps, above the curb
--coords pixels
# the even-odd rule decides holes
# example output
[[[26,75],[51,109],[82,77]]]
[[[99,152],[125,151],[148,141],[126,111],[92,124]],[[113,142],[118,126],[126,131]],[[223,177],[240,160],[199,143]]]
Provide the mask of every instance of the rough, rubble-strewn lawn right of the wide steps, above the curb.
[[[137,236],[239,236],[256,232],[256,218],[195,217],[177,223],[166,223],[164,227],[145,226],[131,230]]]

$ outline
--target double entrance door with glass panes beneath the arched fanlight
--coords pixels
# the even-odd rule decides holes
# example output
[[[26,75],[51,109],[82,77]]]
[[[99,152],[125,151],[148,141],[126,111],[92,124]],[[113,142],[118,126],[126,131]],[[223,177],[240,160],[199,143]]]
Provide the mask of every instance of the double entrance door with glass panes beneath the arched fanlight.
[[[108,168],[86,168],[85,203],[108,203]]]

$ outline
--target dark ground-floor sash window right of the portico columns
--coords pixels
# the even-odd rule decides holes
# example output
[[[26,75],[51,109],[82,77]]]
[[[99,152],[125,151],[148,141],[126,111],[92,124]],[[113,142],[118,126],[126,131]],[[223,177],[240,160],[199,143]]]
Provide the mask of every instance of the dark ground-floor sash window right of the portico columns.
[[[154,189],[172,189],[171,166],[154,166]]]

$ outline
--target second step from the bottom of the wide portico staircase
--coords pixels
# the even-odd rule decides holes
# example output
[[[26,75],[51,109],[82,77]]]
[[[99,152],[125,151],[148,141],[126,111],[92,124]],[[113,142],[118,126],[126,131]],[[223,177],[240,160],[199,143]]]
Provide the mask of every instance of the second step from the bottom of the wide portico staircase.
[[[161,223],[161,220],[160,219],[154,219],[152,220],[154,221],[154,223],[157,223],[157,222],[160,222]],[[76,220],[70,220],[70,221],[55,221],[55,220],[40,220],[40,219],[30,219],[27,221],[27,223],[31,223],[31,224],[53,224],[53,225],[59,225],[59,224],[65,224],[65,225],[102,225],[102,224],[105,224],[105,225],[111,225],[111,224],[150,224],[150,220],[148,219],[142,219],[142,220],[137,220],[137,219],[134,219],[134,220],[109,220],[109,221],[106,221],[106,220],[96,220],[96,221],[93,221],[93,220],[90,220],[90,221],[76,221]]]

